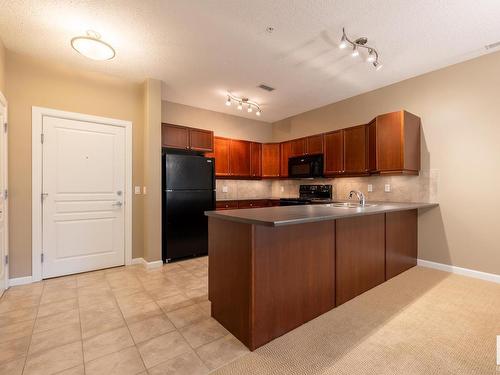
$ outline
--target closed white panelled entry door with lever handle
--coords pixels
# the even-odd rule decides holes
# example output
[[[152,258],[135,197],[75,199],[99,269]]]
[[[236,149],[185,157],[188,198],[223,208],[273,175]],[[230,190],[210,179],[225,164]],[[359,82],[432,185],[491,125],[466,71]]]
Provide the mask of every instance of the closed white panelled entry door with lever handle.
[[[125,264],[125,129],[44,116],[42,277]]]

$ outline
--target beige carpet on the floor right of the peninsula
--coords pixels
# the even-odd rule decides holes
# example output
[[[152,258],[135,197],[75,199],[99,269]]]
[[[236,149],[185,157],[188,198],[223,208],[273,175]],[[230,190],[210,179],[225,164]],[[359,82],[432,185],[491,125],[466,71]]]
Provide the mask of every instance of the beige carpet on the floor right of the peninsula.
[[[213,374],[500,374],[500,284],[415,267]]]

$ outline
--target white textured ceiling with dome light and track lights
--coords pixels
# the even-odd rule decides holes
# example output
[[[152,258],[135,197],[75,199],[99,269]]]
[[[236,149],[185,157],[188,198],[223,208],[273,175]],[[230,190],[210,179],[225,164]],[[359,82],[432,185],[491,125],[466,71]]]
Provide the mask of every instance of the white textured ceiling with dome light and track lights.
[[[485,54],[500,41],[499,20],[498,0],[0,0],[10,50],[161,79],[166,100],[255,119],[224,105],[231,90],[261,103],[263,121]],[[343,26],[351,38],[368,37],[382,70],[337,48]],[[114,60],[87,60],[70,47],[87,29],[116,49]]]

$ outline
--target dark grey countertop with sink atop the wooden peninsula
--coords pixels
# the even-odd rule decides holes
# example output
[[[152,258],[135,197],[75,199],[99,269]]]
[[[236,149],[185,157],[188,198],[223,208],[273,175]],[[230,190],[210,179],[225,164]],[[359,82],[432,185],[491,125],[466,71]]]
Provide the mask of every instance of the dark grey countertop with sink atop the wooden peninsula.
[[[246,224],[282,226],[312,223],[315,221],[343,219],[352,216],[374,215],[384,212],[406,211],[437,207],[437,203],[368,202],[369,207],[344,208],[329,204],[301,206],[247,208],[238,210],[206,211],[205,215],[217,219]]]

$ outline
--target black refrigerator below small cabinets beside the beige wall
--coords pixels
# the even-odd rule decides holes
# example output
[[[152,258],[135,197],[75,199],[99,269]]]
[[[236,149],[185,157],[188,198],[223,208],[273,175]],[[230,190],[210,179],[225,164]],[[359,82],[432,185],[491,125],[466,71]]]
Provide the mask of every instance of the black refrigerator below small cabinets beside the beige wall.
[[[162,257],[164,262],[208,254],[208,218],[215,209],[215,160],[163,155]]]

